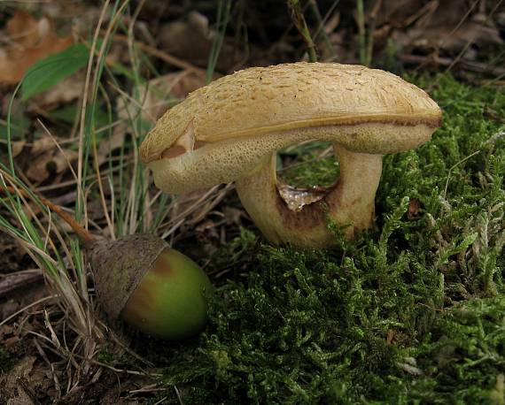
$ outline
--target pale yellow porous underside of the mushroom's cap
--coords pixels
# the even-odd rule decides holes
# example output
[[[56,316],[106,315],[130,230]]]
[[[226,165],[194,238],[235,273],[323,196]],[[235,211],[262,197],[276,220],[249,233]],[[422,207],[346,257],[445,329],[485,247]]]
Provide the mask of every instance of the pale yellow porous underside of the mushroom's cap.
[[[368,123],[354,126],[300,128],[289,134],[267,134],[208,143],[183,155],[148,164],[156,187],[174,194],[188,193],[229,183],[259,170],[263,160],[278,149],[300,141],[322,140],[341,144],[350,151],[382,155],[414,149],[430,139],[433,128],[424,124],[398,126]],[[381,136],[378,136],[381,135]],[[387,137],[388,141],[381,141]]]

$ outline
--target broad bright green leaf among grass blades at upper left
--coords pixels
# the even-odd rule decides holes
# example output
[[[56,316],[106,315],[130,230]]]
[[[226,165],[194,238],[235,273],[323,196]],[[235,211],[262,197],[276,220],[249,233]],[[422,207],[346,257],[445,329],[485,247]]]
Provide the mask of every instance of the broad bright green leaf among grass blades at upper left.
[[[89,50],[82,43],[68,47],[62,52],[44,57],[25,73],[21,84],[23,101],[42,93],[77,72],[88,63]]]

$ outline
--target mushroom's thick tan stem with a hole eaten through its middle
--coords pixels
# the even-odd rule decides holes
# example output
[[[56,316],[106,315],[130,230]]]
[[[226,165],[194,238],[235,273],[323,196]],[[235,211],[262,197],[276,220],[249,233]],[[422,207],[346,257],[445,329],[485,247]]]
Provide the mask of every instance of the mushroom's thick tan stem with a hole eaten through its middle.
[[[352,239],[355,233],[371,228],[374,200],[382,172],[382,156],[356,153],[333,144],[340,166],[340,176],[326,195],[317,198],[309,191],[279,193],[276,179],[276,154],[263,161],[258,171],[237,180],[237,193],[245,210],[268,241],[290,242],[298,247],[324,248],[334,244],[327,229],[329,221],[348,225],[344,233]],[[308,195],[308,198],[307,198]],[[309,203],[303,204],[305,201]],[[314,203],[310,203],[315,201]],[[291,208],[290,208],[291,207]]]

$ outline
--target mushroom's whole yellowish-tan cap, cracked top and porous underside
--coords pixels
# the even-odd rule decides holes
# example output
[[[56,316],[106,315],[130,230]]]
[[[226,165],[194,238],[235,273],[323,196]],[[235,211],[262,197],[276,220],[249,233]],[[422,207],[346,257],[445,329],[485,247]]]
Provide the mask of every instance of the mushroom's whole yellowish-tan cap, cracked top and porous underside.
[[[304,62],[253,67],[167,111],[140,155],[159,188],[183,193],[248,176],[297,141],[369,154],[414,149],[440,120],[430,96],[385,71]]]

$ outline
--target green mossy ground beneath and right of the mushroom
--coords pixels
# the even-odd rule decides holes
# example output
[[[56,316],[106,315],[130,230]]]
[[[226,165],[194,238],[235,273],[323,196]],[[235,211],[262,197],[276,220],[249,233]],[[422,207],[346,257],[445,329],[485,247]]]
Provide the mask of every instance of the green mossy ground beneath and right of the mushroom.
[[[206,332],[153,343],[169,401],[505,403],[505,136],[486,115],[505,117],[505,92],[418,82],[434,80],[443,126],[385,157],[377,230],[347,242],[330,225],[326,251],[243,230],[214,256],[233,279]]]

